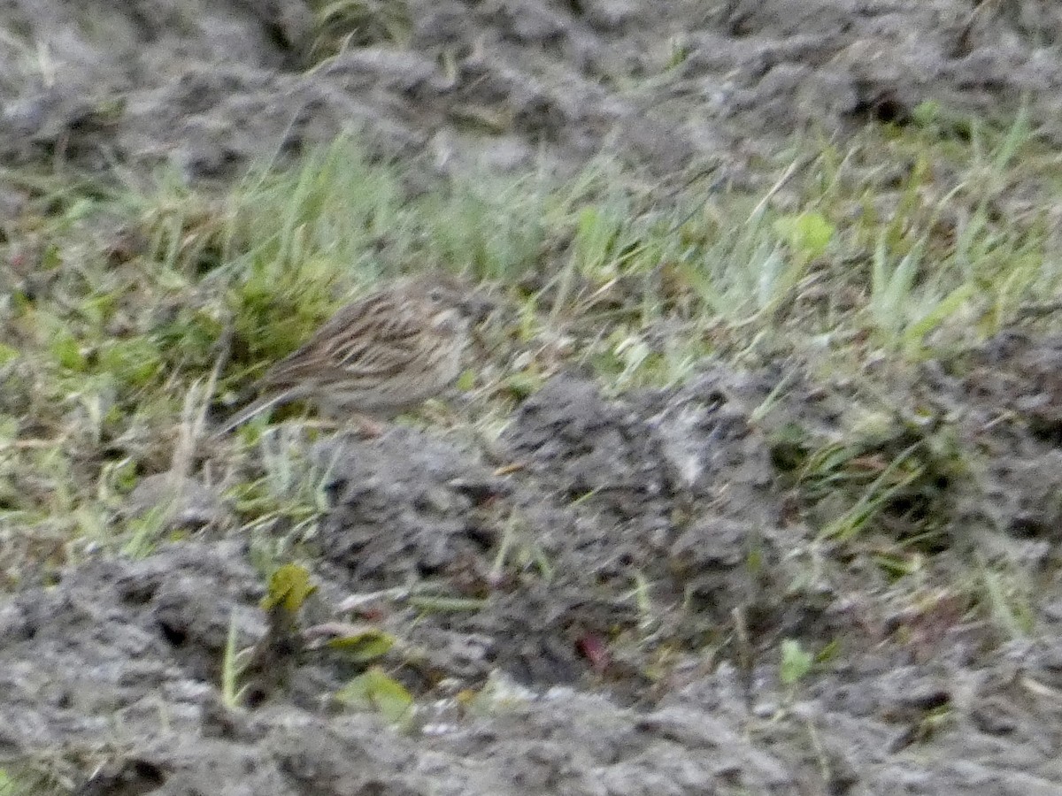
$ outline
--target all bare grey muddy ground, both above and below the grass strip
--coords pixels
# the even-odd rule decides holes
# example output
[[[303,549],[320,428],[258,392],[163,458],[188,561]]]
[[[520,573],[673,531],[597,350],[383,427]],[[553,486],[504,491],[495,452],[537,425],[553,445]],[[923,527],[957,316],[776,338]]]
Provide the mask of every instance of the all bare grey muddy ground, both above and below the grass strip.
[[[0,152],[224,179],[353,124],[441,173],[609,149],[740,177],[801,128],[928,100],[1006,118],[1023,93],[1062,136],[1046,0],[371,7],[386,23],[326,57],[287,0],[5,3]],[[876,398],[800,363],[621,399],[568,374],[490,456],[431,428],[307,444],[331,480],[301,626],[393,634],[414,721],[338,707],[360,669],[296,637],[226,707],[229,625],[267,637],[263,581],[253,540],[206,529],[0,602],[0,758],[83,794],[1062,792],[1060,363],[1062,342],[1009,333]],[[843,516],[836,490],[809,504],[795,473],[853,439],[856,469],[918,468],[844,560],[803,519]],[[205,502],[190,525],[224,512]],[[866,566],[911,551],[914,594]],[[963,588],[997,559],[1029,581],[1011,619],[1031,631],[974,610],[988,582]],[[795,683],[787,639],[821,657]]]

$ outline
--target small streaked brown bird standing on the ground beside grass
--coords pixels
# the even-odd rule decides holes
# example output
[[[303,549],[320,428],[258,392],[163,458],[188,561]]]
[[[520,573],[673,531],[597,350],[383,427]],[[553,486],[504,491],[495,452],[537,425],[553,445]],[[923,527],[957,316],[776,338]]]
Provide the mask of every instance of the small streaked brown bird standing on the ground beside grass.
[[[447,275],[398,281],[347,305],[298,350],[259,379],[260,398],[233,416],[223,434],[266,410],[309,400],[364,430],[449,386],[461,373],[470,319],[490,304]]]

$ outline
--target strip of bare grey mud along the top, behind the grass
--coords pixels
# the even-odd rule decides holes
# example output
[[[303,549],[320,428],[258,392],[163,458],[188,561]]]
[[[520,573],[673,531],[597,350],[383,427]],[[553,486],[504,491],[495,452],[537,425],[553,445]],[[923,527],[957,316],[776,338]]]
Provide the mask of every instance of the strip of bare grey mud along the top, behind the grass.
[[[295,0],[12,0],[5,162],[171,161],[190,176],[359,127],[443,169],[579,166],[602,150],[735,174],[806,128],[909,119],[924,101],[1062,138],[1050,0],[370,2],[324,31]],[[343,48],[346,42],[348,46]],[[339,53],[336,55],[336,53]]]

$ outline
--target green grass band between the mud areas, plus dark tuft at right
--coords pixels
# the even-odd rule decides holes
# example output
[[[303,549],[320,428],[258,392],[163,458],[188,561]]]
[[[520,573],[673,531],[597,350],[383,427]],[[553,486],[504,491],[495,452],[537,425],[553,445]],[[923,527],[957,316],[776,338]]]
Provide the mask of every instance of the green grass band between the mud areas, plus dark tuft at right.
[[[224,192],[172,174],[139,186],[5,174],[29,197],[4,230],[0,468],[20,485],[0,494],[0,522],[18,530],[5,544],[54,539],[51,563],[85,539],[120,548],[130,530],[108,518],[139,475],[172,465],[193,385],[215,374],[196,400],[228,411],[342,304],[427,266],[508,299],[465,384],[489,428],[561,368],[590,367],[622,392],[681,383],[706,357],[804,358],[861,378],[868,361],[946,353],[1062,288],[1045,214],[1026,201],[1030,185],[1049,194],[1058,166],[1020,117],[973,124],[965,140],[924,124],[843,148],[796,141],[759,191],[697,175],[669,193],[604,160],[567,183],[473,174],[424,190],[352,139]],[[184,466],[222,474],[244,527],[313,524],[323,475],[293,475],[288,447],[252,464],[191,437]],[[938,453],[904,439],[808,444],[807,505],[847,496],[818,531],[855,538],[911,501],[932,522],[946,516],[926,497]],[[880,466],[859,471],[869,461]]]

